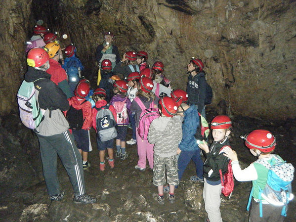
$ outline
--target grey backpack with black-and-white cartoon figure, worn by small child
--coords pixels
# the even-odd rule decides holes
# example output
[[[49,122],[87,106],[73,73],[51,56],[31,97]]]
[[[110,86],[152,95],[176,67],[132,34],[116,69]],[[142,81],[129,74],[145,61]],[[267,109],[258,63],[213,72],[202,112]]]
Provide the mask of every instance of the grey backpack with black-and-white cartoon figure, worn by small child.
[[[100,108],[95,107],[98,111],[96,115],[97,136],[102,142],[113,139],[117,136],[116,121],[113,113],[109,110],[109,104]]]

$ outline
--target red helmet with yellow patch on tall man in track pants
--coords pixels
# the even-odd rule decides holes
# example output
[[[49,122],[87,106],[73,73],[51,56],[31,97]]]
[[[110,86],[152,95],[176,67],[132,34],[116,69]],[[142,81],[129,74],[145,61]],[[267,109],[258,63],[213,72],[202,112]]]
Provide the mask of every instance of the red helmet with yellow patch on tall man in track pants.
[[[27,64],[32,67],[40,67],[48,59],[49,55],[43,48],[32,48],[27,55]]]

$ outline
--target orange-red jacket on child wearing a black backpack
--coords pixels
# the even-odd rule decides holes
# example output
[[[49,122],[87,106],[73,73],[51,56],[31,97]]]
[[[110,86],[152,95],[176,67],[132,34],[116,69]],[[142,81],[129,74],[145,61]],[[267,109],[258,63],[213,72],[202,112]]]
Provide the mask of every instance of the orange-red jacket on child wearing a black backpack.
[[[73,106],[75,109],[82,109],[83,117],[85,118],[85,122],[82,126],[83,130],[89,130],[92,124],[92,111],[91,111],[91,103],[89,101],[85,101],[85,99],[81,99],[79,97],[73,96],[68,99],[69,105]],[[81,104],[84,102],[83,104]],[[65,112],[65,115],[67,111]]]

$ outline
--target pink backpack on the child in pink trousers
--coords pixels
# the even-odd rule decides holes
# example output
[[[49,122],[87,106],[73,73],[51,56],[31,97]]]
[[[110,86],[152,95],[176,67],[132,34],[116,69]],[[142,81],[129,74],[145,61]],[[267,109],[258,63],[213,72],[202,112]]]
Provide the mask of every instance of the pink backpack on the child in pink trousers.
[[[142,140],[147,140],[147,135],[151,122],[160,117],[158,109],[154,108],[154,102],[150,103],[150,107],[147,109],[139,97],[135,97],[134,100],[140,106],[142,112],[140,114],[138,133]]]

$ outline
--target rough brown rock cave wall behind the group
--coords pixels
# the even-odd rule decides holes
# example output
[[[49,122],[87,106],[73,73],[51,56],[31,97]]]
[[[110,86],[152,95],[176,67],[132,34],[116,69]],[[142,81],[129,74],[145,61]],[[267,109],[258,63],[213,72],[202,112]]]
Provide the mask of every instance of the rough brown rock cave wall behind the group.
[[[85,76],[97,71],[94,52],[110,30],[121,54],[145,50],[150,65],[163,61],[174,89],[186,88],[188,61],[200,57],[213,88],[212,108],[225,99],[228,114],[296,116],[294,0],[4,0],[4,5],[0,113],[15,108],[26,71],[24,43],[42,19],[51,31],[69,36],[62,46],[77,46]]]

